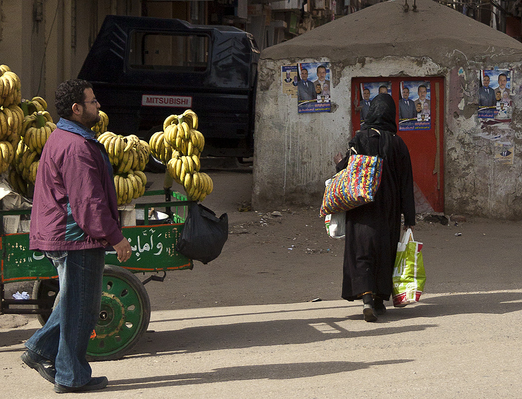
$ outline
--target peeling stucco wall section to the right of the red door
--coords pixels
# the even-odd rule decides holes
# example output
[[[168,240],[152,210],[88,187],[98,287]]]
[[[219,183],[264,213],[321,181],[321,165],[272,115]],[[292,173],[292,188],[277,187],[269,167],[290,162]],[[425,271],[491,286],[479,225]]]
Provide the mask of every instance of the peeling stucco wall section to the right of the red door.
[[[448,73],[444,133],[446,213],[522,219],[522,92],[517,73],[520,64],[515,60],[502,64],[462,62]],[[477,116],[478,71],[494,68],[514,71],[512,122],[483,126]],[[513,165],[495,160],[495,143],[514,145]]]

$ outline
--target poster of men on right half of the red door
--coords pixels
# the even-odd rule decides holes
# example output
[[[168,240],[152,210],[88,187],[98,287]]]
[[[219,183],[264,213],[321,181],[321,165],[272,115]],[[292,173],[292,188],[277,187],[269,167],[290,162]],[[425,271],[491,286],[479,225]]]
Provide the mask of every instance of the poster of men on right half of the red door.
[[[430,130],[430,83],[404,80],[400,83],[399,131]]]

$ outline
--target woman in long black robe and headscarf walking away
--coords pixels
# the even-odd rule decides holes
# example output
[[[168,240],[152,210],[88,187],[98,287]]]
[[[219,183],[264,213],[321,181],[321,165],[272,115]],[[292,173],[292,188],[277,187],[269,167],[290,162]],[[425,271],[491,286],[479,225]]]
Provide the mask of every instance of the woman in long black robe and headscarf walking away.
[[[383,301],[392,294],[392,272],[400,239],[400,215],[404,228],[415,225],[413,175],[408,147],[397,136],[395,102],[379,94],[370,105],[361,130],[350,140],[357,154],[383,157],[381,185],[375,201],[346,213],[342,298],[363,300],[365,321],[376,321],[386,311]],[[347,155],[334,157],[338,171],[348,165]]]

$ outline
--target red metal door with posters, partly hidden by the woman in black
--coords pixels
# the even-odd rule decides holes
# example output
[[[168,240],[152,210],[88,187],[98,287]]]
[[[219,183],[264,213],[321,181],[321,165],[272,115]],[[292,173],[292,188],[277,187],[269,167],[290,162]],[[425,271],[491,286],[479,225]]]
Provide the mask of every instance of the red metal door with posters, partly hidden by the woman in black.
[[[417,213],[444,212],[444,79],[442,77],[353,78],[352,134],[355,134],[361,127],[361,115],[364,114],[363,103],[368,97],[368,91],[371,92],[371,100],[377,95],[378,90],[383,89],[383,86],[387,87],[387,92],[395,100],[398,135],[404,140],[410,151]],[[425,106],[425,108],[428,109],[426,112],[430,115],[426,117],[429,118],[429,123],[424,121],[421,113],[418,114],[416,120],[401,119],[401,123],[399,123],[399,101],[403,95],[408,96],[408,92],[404,92],[404,88],[408,87],[409,100],[412,102],[422,103],[421,98],[424,91],[427,91],[425,102],[428,102],[429,106]],[[416,90],[412,90],[413,88]],[[422,121],[420,116],[422,116]]]

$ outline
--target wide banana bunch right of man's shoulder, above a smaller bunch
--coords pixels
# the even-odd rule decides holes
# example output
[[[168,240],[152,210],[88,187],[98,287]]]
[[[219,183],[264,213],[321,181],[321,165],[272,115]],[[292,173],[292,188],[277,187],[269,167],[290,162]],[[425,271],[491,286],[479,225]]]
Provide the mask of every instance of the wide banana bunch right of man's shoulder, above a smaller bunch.
[[[143,171],[149,161],[149,145],[134,134],[124,137],[112,132],[104,132],[98,136],[98,141],[107,150],[115,173],[127,173],[129,170]]]

